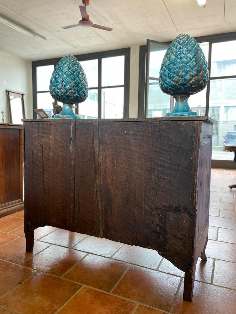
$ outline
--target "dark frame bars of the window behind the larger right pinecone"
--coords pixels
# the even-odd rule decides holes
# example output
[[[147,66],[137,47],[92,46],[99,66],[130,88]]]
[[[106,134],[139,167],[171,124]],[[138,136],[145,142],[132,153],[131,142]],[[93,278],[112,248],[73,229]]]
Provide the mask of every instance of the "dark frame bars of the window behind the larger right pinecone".
[[[208,68],[209,73],[211,74],[211,50],[212,44],[224,41],[233,41],[236,40],[236,32],[231,33],[223,33],[223,34],[215,34],[209,36],[201,36],[194,37],[194,39],[200,42],[209,42],[209,50],[208,50]],[[167,41],[165,43],[171,44],[172,41]],[[144,117],[144,93],[145,93],[145,54],[147,52],[147,45],[143,45],[139,47],[139,79],[138,79],[138,118]],[[144,73],[144,74],[143,74]],[[210,99],[210,83],[212,79],[225,79],[225,78],[236,78],[236,75],[233,76],[219,76],[219,77],[211,77],[209,75],[209,82],[206,86],[206,116],[209,115],[209,99]],[[170,110],[172,110],[172,106],[170,106]]]

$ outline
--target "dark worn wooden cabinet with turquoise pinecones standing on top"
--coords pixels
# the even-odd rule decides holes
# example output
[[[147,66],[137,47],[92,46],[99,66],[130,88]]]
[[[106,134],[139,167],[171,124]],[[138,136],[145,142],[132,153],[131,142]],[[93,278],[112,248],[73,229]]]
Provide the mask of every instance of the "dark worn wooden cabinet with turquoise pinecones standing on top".
[[[206,260],[213,120],[24,120],[25,236],[50,225],[157,252],[193,296]]]

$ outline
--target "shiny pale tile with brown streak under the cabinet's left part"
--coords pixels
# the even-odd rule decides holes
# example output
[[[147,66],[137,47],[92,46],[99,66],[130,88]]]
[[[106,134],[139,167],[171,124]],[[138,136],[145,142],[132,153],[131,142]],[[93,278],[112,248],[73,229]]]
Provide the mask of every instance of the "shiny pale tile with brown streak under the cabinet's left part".
[[[87,235],[82,235],[81,233],[71,232],[63,229],[57,229],[56,231],[50,233],[47,236],[41,238],[41,241],[72,247],[76,245],[79,241],[84,239]]]

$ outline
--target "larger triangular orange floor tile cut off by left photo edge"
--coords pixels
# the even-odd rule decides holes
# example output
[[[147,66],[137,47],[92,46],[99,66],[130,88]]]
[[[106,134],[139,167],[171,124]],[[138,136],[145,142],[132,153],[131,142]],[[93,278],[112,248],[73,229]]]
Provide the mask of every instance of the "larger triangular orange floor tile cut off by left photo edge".
[[[36,272],[26,267],[0,260],[0,296],[21,284],[34,273]]]

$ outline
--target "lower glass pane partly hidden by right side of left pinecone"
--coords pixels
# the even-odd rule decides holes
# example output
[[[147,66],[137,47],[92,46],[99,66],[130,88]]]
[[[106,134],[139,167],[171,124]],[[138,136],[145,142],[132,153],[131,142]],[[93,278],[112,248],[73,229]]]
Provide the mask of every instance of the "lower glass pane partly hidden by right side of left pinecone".
[[[79,116],[81,119],[97,119],[98,118],[98,90],[90,89],[88,98],[77,105],[79,108]]]

